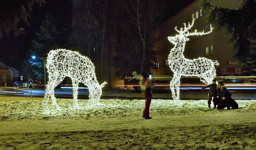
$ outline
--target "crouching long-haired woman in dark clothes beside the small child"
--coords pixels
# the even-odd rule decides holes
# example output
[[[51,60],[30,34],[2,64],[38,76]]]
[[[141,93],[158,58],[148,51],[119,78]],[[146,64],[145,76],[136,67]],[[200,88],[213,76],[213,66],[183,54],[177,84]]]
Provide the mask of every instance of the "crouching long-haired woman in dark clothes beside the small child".
[[[217,99],[220,101],[217,109],[233,108],[238,109],[238,104],[231,98],[231,93],[224,86],[224,81],[219,81],[217,86]]]

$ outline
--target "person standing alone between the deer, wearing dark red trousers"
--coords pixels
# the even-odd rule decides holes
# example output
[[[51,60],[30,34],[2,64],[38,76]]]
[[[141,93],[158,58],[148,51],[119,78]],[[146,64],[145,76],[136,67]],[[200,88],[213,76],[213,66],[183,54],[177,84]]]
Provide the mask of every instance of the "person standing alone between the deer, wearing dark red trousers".
[[[145,107],[143,111],[143,118],[145,119],[151,119],[152,117],[149,117],[149,106],[151,103],[151,97],[152,97],[152,88],[155,87],[155,82],[153,80],[149,80],[149,74],[147,71],[142,71],[141,75],[143,78],[140,79],[140,90],[142,96],[145,98]]]

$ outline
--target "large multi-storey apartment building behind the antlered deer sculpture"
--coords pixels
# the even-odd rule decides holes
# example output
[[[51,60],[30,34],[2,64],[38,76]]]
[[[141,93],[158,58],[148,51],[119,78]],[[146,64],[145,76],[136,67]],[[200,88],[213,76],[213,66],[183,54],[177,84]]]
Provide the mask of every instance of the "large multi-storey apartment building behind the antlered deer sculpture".
[[[243,1],[233,0],[207,0],[212,5],[218,7],[237,9],[241,6]],[[194,26],[190,32],[194,32],[196,29],[199,31],[210,31],[213,28],[213,32],[203,36],[190,36],[189,41],[185,45],[184,56],[188,59],[195,59],[198,57],[206,57],[211,60],[217,60],[220,65],[216,66],[217,76],[234,76],[241,75],[242,66],[239,61],[234,59],[234,53],[231,50],[231,45],[228,44],[228,40],[231,35],[228,35],[225,29],[217,31],[216,25],[210,24],[208,20],[208,11],[200,9],[199,5],[202,0],[196,0],[178,14],[170,18],[163,25],[158,26],[153,32],[154,47],[157,54],[158,67],[157,72],[152,70],[155,75],[172,75],[172,71],[168,65],[168,55],[173,45],[168,41],[168,36],[175,36],[175,26],[178,29],[184,27],[184,23],[188,25],[188,22],[192,22],[195,19]]]

